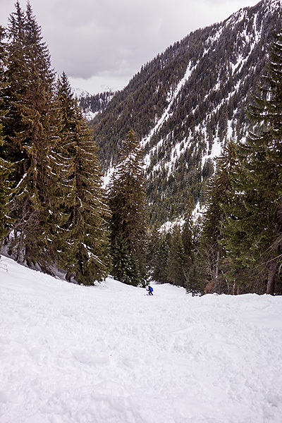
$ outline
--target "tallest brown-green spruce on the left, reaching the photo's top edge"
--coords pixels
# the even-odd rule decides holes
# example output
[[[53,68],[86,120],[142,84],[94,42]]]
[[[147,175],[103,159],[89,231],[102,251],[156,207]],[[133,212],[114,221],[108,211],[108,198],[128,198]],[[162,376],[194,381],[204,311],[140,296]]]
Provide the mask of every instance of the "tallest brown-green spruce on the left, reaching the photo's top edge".
[[[4,98],[4,154],[13,163],[14,218],[10,252],[19,262],[49,262],[51,203],[50,148],[54,142],[53,82],[50,56],[30,3],[24,13],[16,2],[7,30],[8,63]]]

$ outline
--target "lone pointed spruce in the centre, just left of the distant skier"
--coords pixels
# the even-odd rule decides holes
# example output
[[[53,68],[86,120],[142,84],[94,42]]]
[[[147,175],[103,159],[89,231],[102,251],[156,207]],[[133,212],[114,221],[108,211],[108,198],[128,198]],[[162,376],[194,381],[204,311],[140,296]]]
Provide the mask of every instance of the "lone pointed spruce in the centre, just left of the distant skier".
[[[142,151],[133,130],[119,148],[118,164],[109,185],[113,274],[137,285],[145,278],[147,218]]]

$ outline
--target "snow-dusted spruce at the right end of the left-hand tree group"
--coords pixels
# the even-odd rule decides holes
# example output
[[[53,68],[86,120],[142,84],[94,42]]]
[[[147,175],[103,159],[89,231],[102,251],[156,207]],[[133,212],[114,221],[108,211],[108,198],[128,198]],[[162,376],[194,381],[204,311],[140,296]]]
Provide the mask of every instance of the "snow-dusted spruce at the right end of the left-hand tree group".
[[[68,278],[92,285],[106,276],[109,262],[109,209],[97,147],[65,73],[58,78],[56,100],[61,115],[60,143],[54,149],[59,178],[56,259]]]

